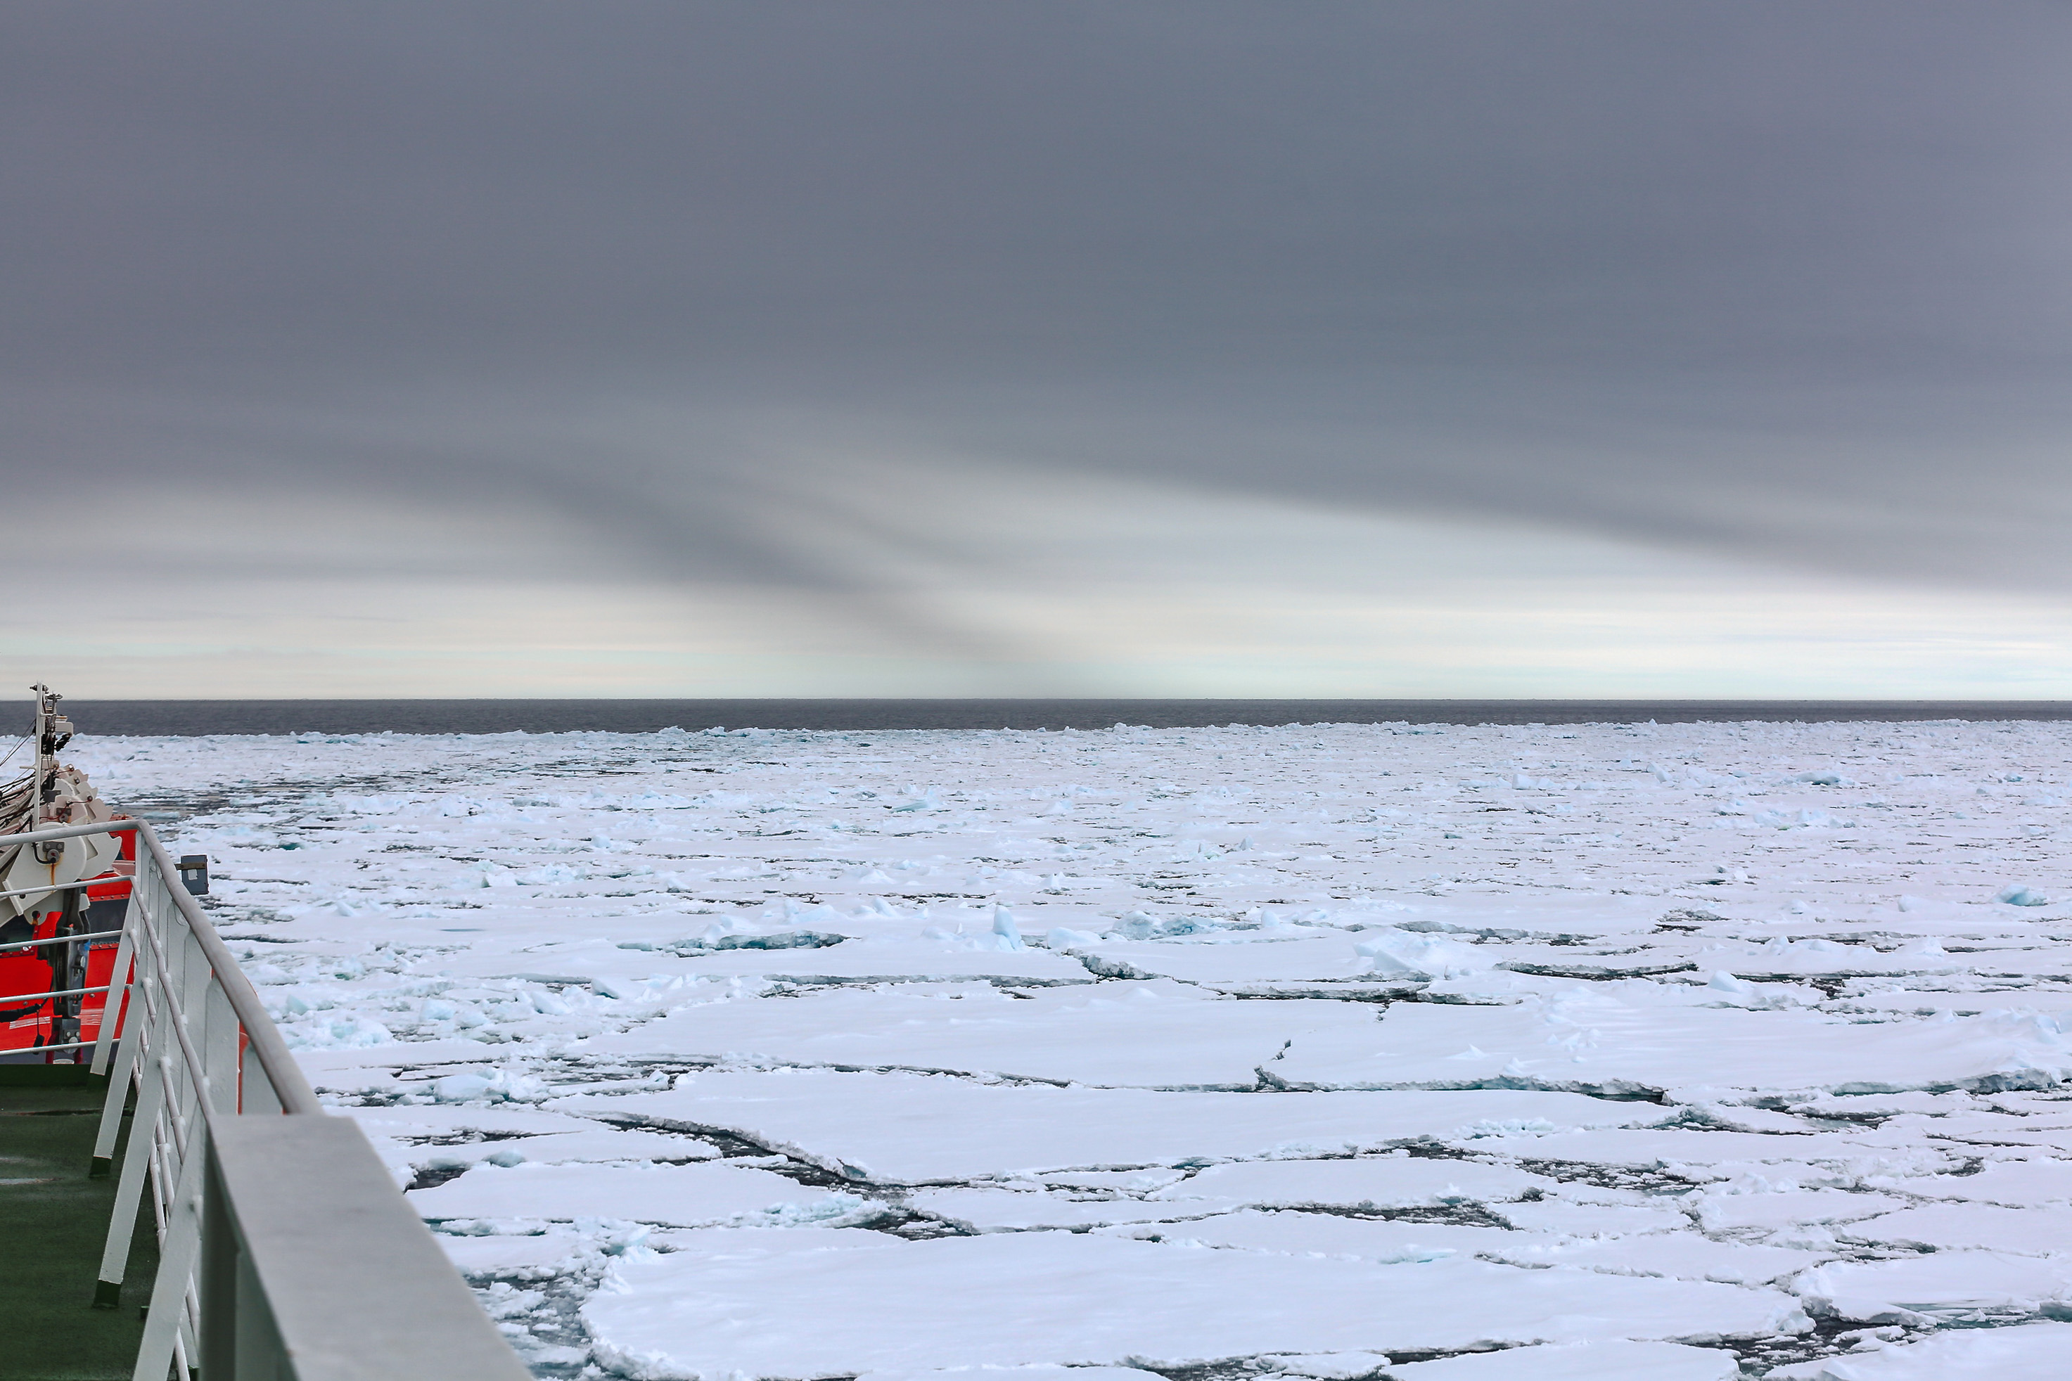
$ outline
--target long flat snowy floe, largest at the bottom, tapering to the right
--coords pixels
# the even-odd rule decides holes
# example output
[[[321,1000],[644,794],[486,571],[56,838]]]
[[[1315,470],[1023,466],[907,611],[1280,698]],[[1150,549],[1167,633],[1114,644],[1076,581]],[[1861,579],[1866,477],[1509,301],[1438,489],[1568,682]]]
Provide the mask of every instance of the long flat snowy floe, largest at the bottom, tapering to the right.
[[[746,1236],[678,1234],[678,1251],[620,1263],[584,1304],[597,1354],[642,1377],[825,1377],[1809,1327],[1774,1290],[1560,1267],[1372,1265],[1073,1232]],[[773,1317],[812,1327],[767,1327]]]

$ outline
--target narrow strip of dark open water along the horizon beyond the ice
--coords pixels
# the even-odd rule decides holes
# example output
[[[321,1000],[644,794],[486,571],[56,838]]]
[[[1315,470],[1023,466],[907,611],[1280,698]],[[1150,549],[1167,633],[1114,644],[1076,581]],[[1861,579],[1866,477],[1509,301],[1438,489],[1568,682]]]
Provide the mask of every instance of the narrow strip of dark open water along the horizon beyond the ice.
[[[81,733],[1109,729],[2072,718],[2072,700],[66,700]],[[27,721],[29,706],[21,706]]]

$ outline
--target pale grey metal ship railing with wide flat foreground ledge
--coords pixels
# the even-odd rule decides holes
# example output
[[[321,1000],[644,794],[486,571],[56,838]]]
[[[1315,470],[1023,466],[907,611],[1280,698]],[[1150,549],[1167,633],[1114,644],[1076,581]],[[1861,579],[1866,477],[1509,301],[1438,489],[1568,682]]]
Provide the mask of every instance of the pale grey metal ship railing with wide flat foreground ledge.
[[[128,1137],[93,1302],[120,1302],[149,1193],[160,1255],[135,1381],[524,1381],[367,1137],[325,1114],[157,832],[110,820],[4,843],[122,830],[137,876],[91,1041],[108,1077],[91,1174],[110,1172],[124,1120]]]

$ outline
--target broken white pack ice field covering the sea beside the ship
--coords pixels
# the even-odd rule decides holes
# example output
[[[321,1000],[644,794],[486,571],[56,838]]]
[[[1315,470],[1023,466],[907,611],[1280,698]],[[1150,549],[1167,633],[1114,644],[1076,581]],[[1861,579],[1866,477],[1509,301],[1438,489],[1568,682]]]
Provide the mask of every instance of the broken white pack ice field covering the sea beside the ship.
[[[75,743],[543,1377],[2072,1367],[2072,727]]]

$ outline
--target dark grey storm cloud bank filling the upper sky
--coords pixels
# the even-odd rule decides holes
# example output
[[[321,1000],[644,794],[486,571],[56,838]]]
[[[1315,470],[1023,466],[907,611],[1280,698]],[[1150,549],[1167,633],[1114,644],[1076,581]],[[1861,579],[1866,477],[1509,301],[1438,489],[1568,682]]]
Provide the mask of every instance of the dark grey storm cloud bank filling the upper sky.
[[[2064,584],[2062,4],[12,4],[8,464],[781,540],[756,418]],[[640,420],[646,418],[646,420]],[[667,424],[657,418],[669,418]]]

